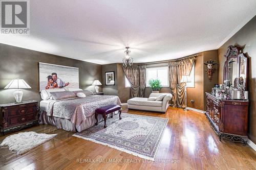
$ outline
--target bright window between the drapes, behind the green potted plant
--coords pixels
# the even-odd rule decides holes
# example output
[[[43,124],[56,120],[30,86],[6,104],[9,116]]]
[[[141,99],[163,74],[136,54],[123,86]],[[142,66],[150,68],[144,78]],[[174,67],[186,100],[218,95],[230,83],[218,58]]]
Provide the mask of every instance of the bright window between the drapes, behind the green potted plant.
[[[169,86],[168,66],[148,67],[146,68],[146,86],[149,87],[150,79],[159,79],[163,87]]]

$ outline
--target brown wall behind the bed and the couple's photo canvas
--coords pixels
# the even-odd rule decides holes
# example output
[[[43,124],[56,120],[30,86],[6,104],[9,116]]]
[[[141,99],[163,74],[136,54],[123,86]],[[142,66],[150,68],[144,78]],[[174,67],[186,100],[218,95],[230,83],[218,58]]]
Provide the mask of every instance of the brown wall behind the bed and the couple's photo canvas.
[[[79,86],[94,91],[95,79],[101,81],[101,65],[41,53],[0,43],[0,104],[14,102],[14,89],[4,89],[12,79],[24,79],[32,89],[22,89],[23,100],[40,101],[38,62],[79,68]]]

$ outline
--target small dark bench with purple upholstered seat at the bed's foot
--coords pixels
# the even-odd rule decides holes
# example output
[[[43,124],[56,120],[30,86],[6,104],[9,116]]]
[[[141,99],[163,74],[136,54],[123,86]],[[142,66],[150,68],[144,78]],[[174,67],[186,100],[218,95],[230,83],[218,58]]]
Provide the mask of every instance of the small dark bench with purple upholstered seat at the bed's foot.
[[[108,106],[103,106],[101,108],[98,108],[95,110],[95,119],[96,119],[96,123],[95,125],[98,125],[98,114],[101,114],[103,119],[104,119],[104,128],[106,128],[106,117],[108,114],[111,113],[111,118],[113,117],[113,112],[119,110],[119,119],[121,118],[121,106],[118,105],[108,105]]]

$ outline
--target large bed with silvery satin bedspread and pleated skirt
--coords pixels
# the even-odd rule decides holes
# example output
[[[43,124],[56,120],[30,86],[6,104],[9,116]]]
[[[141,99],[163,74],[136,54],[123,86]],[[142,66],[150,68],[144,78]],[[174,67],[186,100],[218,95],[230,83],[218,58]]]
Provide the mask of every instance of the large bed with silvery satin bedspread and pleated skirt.
[[[86,98],[42,100],[40,102],[41,123],[70,132],[81,132],[95,125],[94,116],[97,108],[110,104],[121,106],[118,96],[88,95]],[[117,113],[118,111],[114,114]],[[99,121],[101,120],[103,120],[102,117],[99,117]]]

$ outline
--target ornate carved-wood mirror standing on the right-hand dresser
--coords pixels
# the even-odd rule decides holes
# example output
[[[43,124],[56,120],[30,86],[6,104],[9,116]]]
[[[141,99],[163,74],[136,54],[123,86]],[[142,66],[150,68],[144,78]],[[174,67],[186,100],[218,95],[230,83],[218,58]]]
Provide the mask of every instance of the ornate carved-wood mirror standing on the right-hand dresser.
[[[247,57],[236,46],[228,46],[224,64],[224,80],[229,80],[234,89],[247,90]]]

